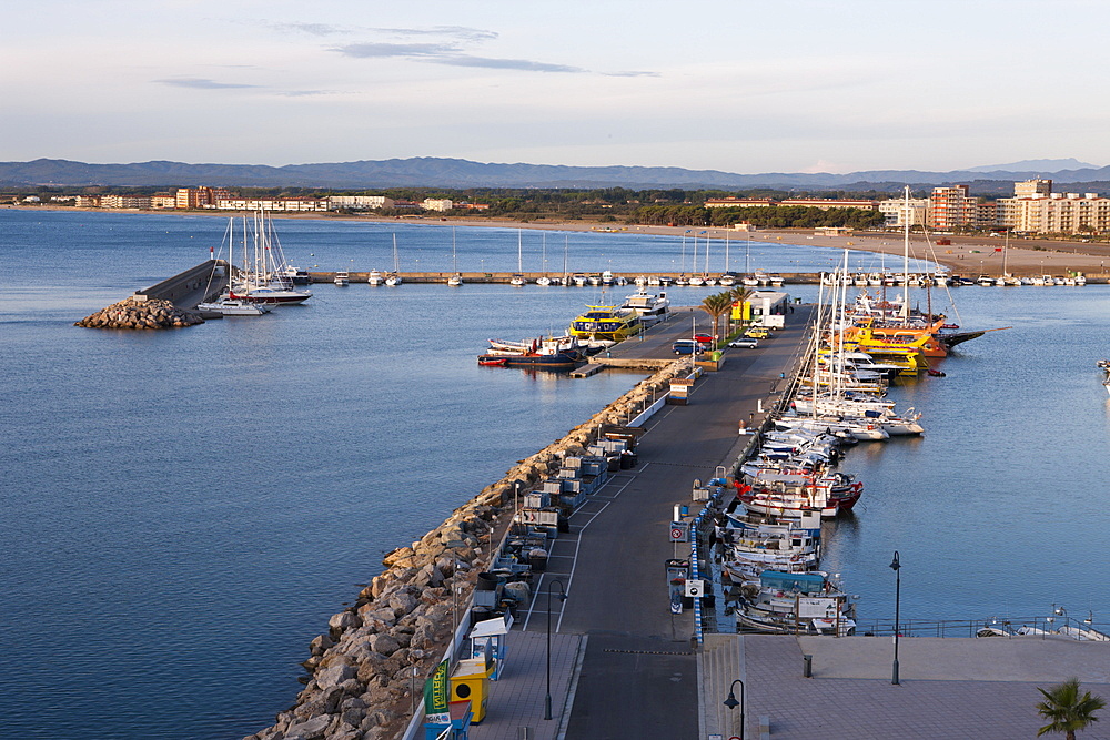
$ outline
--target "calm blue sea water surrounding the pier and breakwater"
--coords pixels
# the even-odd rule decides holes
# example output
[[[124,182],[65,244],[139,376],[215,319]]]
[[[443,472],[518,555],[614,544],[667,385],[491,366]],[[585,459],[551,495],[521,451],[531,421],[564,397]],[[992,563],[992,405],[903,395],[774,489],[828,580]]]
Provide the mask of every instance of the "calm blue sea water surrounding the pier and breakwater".
[[[3,737],[220,740],[270,724],[301,688],[309,641],[382,555],[640,377],[475,362],[490,337],[561,332],[583,304],[630,287],[329,284],[261,318],[72,325],[220,251],[225,223],[0,211]],[[302,268],[390,270],[394,235],[402,270],[450,272],[453,236],[461,271],[513,271],[518,247],[524,270],[544,264],[535,231],[278,230]],[[724,270],[712,250],[710,270]],[[674,236],[547,233],[552,272],[564,253],[571,271],[684,260]],[[840,259],[738,241],[728,266]],[[880,257],[849,264],[879,270]],[[692,305],[714,290],[669,296]],[[834,525],[825,566],[859,595],[861,618],[891,616],[897,549],[906,618],[1047,616],[1054,602],[1106,621],[1110,402],[1094,363],[1110,354],[1110,288],[952,294],[965,327],[1013,328],[962,345],[942,361],[947,377],[891,391],[924,412],[927,434],[849,454],[866,490]]]

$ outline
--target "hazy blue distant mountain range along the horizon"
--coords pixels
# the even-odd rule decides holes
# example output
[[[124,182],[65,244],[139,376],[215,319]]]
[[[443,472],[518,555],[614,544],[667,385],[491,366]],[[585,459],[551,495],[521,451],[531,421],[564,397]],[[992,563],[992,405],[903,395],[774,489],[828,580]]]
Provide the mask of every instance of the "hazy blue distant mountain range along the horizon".
[[[977,192],[1001,194],[1009,183],[1051,178],[1061,185],[1110,185],[1110,166],[1096,168],[1077,160],[1029,160],[952,172],[869,170],[848,174],[764,173],[736,174],[717,170],[646,166],[562,166],[552,164],[494,164],[468,160],[412,158],[322,164],[186,164],[133,162],[88,164],[69,160],[0,162],[0,185],[110,185],[319,187],[370,190],[383,187],[680,187],[685,190],[880,190],[902,185],[973,184]],[[997,192],[996,192],[997,191]]]

